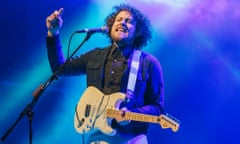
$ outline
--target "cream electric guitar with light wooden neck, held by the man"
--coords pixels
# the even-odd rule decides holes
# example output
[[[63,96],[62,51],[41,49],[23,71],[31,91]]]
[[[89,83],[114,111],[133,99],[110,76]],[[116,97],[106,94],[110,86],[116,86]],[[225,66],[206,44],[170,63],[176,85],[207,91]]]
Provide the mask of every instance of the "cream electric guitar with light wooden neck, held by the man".
[[[106,135],[113,136],[116,130],[111,127],[113,118],[140,122],[158,123],[163,129],[171,128],[173,132],[179,129],[179,121],[170,115],[160,116],[146,115],[134,112],[126,112],[124,116],[119,110],[121,102],[125,100],[125,94],[117,92],[104,95],[95,87],[88,87],[81,96],[74,117],[74,127],[80,134],[91,133],[100,130]]]

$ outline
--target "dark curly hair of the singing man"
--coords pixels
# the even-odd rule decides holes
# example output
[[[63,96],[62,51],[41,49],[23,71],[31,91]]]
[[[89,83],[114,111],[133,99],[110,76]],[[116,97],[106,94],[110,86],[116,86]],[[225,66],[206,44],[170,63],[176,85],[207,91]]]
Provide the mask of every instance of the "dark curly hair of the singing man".
[[[116,16],[121,11],[128,11],[132,14],[136,20],[136,33],[133,41],[133,46],[136,49],[141,49],[146,46],[147,43],[152,39],[152,27],[149,19],[143,15],[139,10],[128,4],[120,4],[119,6],[113,7],[113,12],[109,14],[105,19],[105,25],[108,27],[108,37],[111,39],[110,32],[115,21]]]

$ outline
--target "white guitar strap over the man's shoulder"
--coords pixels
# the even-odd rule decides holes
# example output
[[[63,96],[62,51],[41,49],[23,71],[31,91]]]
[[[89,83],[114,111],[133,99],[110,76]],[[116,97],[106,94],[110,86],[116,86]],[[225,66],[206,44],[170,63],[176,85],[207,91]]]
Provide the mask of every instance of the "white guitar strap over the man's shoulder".
[[[127,97],[130,99],[134,95],[141,53],[142,52],[140,50],[134,50],[132,55],[130,72],[128,77],[128,85],[127,85]]]

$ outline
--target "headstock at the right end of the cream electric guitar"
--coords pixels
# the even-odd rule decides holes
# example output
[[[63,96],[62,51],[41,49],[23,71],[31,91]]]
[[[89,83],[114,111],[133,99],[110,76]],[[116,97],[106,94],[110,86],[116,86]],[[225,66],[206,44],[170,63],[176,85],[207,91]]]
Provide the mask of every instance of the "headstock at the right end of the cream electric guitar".
[[[171,128],[174,132],[177,132],[180,126],[180,121],[169,114],[161,114],[158,121],[162,128]]]

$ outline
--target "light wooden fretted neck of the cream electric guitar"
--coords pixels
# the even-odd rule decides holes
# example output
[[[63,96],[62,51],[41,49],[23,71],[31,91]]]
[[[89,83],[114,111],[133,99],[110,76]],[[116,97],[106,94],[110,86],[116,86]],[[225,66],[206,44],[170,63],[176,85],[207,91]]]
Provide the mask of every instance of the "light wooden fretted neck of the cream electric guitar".
[[[133,120],[140,122],[149,122],[149,123],[159,123],[160,118],[158,116],[145,115],[134,112],[126,112],[124,116],[122,116],[122,112],[114,109],[107,109],[107,117],[109,118],[119,118],[122,120]]]

